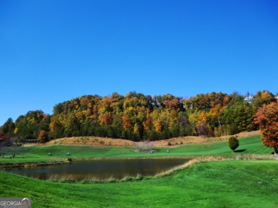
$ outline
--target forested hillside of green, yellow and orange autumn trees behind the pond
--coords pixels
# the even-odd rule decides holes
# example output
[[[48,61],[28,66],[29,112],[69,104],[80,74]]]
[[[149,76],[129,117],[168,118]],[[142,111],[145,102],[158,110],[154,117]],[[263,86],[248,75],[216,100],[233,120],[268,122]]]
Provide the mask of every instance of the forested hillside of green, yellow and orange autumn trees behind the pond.
[[[1,138],[18,141],[38,138],[45,142],[71,136],[102,136],[159,140],[177,136],[222,136],[257,130],[254,116],[259,106],[277,102],[268,91],[254,97],[222,92],[175,97],[130,92],[125,96],[86,95],[56,104],[53,115],[29,111],[0,128]]]

